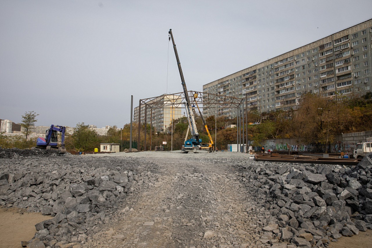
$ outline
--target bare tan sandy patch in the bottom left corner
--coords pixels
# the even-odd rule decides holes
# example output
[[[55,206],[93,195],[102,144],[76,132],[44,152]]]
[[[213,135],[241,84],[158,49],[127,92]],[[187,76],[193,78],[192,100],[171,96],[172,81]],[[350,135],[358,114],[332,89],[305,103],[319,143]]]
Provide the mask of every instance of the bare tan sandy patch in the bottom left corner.
[[[22,247],[21,241],[29,241],[35,235],[35,224],[51,218],[24,209],[0,208],[0,247]]]

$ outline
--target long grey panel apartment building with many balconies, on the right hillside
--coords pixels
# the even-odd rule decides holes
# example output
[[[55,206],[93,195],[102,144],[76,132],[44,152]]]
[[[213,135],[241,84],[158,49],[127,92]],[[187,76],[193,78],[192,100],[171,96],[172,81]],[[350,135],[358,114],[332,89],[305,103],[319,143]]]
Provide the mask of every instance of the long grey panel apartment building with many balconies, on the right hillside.
[[[203,85],[204,93],[246,98],[248,110],[296,109],[301,95],[340,98],[371,92],[372,19]],[[204,108],[205,117],[215,108]],[[218,106],[217,106],[218,108]],[[219,108],[218,116],[237,109]]]

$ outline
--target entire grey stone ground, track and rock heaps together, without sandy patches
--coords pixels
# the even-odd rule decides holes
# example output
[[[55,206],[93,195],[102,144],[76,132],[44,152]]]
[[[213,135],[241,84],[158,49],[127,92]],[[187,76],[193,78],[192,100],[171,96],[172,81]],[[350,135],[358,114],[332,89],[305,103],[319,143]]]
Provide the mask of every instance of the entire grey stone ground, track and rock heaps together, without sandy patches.
[[[371,158],[353,168],[231,152],[0,158],[0,205],[53,217],[23,243],[32,248],[311,248],[372,228]]]

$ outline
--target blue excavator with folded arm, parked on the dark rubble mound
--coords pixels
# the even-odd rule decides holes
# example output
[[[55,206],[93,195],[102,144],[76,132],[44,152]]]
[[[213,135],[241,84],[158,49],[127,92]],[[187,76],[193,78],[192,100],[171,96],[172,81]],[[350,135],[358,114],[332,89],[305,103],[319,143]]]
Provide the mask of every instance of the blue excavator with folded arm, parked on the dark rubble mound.
[[[60,125],[51,125],[50,128],[45,131],[45,138],[39,137],[36,140],[36,147],[41,149],[58,149],[60,153],[65,153],[65,132],[66,127]],[[61,146],[58,147],[58,133],[61,133]]]

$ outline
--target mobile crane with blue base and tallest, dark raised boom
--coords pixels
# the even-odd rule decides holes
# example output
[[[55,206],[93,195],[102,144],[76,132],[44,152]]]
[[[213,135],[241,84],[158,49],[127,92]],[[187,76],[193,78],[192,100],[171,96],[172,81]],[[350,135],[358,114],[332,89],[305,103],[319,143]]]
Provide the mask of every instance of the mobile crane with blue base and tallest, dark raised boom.
[[[182,146],[182,152],[183,153],[188,153],[190,151],[193,151],[194,153],[196,153],[197,147],[199,146],[199,144],[202,143],[202,139],[199,139],[199,133],[198,133],[198,130],[196,129],[194,113],[192,111],[192,107],[190,106],[190,99],[189,99],[189,95],[187,93],[185,78],[183,77],[181,63],[180,63],[180,59],[178,57],[176,44],[174,43],[172,29],[169,29],[168,33],[169,33],[169,41],[170,41],[170,39],[172,39],[173,50],[174,50],[174,54],[176,55],[178,71],[179,71],[180,77],[181,77],[181,84],[182,84],[182,87],[183,87],[183,93],[185,94],[186,102],[184,104],[185,104],[185,108],[186,108],[187,121],[189,122],[189,128],[190,128],[190,133],[191,133],[191,139],[187,139],[187,140],[185,139],[185,144]]]

